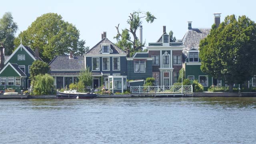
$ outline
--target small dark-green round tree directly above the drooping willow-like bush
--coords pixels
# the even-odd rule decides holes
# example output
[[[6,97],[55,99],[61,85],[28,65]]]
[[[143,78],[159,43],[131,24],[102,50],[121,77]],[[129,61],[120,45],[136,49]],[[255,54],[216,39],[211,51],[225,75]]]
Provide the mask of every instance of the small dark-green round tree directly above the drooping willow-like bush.
[[[30,79],[34,80],[34,77],[36,75],[44,75],[46,73],[48,73],[48,71],[50,70],[50,66],[40,60],[36,60],[32,63],[31,67],[30,67]]]

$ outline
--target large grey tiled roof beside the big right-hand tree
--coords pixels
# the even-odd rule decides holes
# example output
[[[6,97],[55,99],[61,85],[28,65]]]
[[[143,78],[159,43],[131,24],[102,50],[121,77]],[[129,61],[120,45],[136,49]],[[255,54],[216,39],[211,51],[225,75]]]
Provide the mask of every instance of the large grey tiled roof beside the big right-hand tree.
[[[208,34],[210,34],[210,28],[192,28],[188,30],[183,37],[183,55],[186,58],[189,49],[199,48],[200,40],[204,39]]]

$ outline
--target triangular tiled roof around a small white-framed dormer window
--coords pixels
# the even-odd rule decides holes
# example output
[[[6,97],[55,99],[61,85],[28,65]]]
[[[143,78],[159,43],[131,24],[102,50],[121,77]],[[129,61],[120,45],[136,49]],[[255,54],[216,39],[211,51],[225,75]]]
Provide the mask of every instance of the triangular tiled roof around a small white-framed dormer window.
[[[101,54],[101,44],[110,44],[110,48],[113,50],[112,53],[110,54],[126,54],[125,51],[117,47],[114,43],[112,43],[110,40],[107,38],[103,38],[99,43],[97,43],[94,47],[92,47],[89,51],[87,51],[85,54],[86,55],[98,55]]]

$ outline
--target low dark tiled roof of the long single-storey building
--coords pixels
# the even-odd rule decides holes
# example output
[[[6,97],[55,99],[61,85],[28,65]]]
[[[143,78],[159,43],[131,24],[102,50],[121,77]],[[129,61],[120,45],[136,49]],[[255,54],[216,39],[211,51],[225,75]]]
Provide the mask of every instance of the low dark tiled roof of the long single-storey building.
[[[73,56],[69,58],[69,55],[57,55],[49,63],[50,70],[82,70],[85,69],[84,66],[84,56]]]

